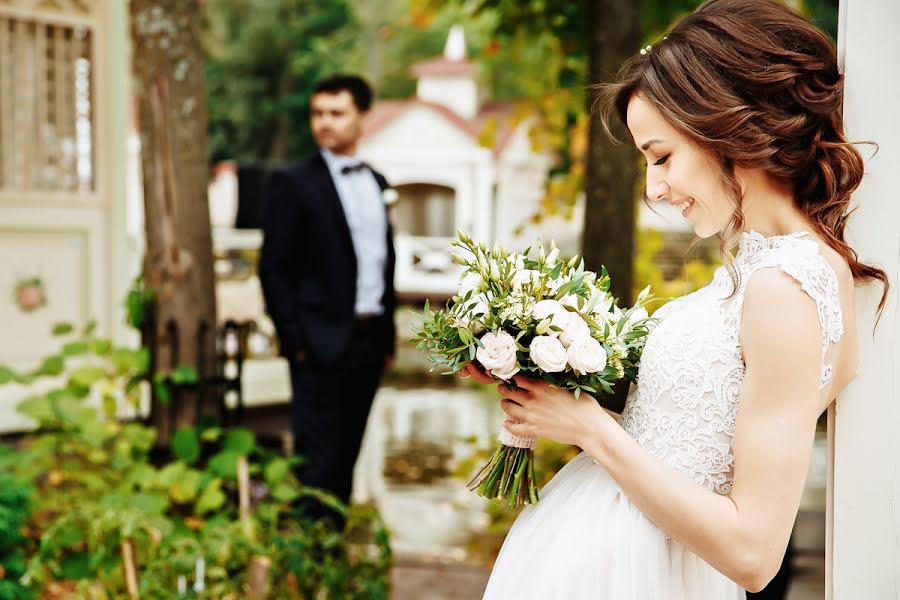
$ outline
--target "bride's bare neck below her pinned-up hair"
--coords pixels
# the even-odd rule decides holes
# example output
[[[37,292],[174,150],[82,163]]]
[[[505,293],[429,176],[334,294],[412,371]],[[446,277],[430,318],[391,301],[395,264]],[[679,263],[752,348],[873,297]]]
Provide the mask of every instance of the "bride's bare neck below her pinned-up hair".
[[[797,208],[789,186],[762,172],[742,174],[744,188],[744,231],[751,229],[763,236],[811,231],[809,219]]]

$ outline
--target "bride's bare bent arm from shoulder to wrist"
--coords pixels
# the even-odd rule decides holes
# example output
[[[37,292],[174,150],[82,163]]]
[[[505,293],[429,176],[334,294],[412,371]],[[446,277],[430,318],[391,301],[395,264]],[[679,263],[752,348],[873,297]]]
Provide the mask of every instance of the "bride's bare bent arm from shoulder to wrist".
[[[758,272],[741,342],[747,369],[730,496],[664,465],[608,420],[597,420],[583,447],[663,531],[756,591],[781,564],[809,465],[822,351],[815,303],[780,271]]]

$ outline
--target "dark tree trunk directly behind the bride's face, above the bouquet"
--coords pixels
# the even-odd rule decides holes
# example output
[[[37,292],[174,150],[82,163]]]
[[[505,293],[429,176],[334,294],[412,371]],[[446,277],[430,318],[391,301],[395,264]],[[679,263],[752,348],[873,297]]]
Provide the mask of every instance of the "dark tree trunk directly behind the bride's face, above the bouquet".
[[[588,76],[591,84],[610,82],[622,64],[639,50],[641,3],[636,0],[593,0],[589,24]],[[593,97],[588,95],[588,108]],[[609,140],[598,118],[591,119],[586,170],[584,214],[585,267],[606,266],[611,291],[622,303],[632,298],[635,208],[638,160],[627,143],[631,136],[611,123],[616,136]]]

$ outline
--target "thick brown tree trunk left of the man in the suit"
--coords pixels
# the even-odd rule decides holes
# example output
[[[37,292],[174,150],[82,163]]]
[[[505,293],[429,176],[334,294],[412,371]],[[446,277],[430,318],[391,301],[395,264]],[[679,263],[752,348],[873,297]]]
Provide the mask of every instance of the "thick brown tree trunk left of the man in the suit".
[[[131,0],[134,80],[141,135],[147,253],[155,292],[147,343],[157,373],[190,365],[203,377],[215,361],[215,282],[206,196],[206,84],[197,2]],[[203,364],[198,364],[202,362]],[[198,388],[203,389],[203,388]],[[182,389],[154,396],[158,443],[192,425],[212,398]]]

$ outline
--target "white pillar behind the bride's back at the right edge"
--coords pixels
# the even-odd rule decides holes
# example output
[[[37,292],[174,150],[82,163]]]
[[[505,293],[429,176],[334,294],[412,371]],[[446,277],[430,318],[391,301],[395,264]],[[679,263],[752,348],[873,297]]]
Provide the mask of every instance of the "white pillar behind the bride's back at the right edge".
[[[829,414],[834,449],[829,489],[831,522],[828,598],[896,598],[900,590],[900,2],[841,0],[838,48],[846,76],[844,121],[860,146],[866,176],[854,194],[859,210],[850,241],[864,262],[891,278],[884,315],[877,284],[858,288],[856,379]]]

